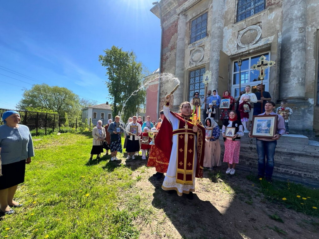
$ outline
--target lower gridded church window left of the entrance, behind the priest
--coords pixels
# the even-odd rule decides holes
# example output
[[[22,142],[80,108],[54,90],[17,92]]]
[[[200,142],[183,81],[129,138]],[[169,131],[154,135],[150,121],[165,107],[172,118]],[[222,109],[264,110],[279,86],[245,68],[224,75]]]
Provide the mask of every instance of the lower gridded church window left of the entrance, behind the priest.
[[[205,97],[205,84],[203,83],[203,75],[205,67],[192,70],[189,72],[189,101],[194,97],[196,91],[199,92],[199,97]]]

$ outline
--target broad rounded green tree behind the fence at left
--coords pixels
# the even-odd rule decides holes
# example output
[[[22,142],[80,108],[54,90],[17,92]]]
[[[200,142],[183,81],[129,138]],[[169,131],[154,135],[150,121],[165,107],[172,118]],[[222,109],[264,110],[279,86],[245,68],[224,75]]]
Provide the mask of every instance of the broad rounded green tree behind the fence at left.
[[[17,108],[26,110],[28,106],[49,109],[61,117],[68,113],[70,122],[75,122],[81,110],[78,95],[67,88],[49,86],[45,83],[34,84],[31,90],[24,91]]]

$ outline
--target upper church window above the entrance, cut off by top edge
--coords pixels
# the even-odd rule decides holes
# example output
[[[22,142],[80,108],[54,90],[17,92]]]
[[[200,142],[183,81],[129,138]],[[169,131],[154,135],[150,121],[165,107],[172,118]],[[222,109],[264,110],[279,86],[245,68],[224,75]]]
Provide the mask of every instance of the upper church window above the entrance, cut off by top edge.
[[[237,22],[265,9],[265,0],[238,0]]]

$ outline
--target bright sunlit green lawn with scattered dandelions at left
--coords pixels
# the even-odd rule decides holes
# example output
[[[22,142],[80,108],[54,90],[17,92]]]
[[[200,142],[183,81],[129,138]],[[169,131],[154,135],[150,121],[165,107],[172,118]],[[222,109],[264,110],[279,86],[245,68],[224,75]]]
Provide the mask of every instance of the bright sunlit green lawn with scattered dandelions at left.
[[[88,163],[90,134],[33,139],[36,156],[15,195],[24,206],[0,222],[0,238],[139,237],[133,221],[152,209],[134,193],[129,168],[110,156]]]

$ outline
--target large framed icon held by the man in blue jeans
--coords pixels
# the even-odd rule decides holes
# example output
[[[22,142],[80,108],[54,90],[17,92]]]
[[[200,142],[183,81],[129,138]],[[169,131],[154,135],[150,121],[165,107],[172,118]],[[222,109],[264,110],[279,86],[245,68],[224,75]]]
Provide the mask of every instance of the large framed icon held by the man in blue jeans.
[[[278,115],[254,115],[251,121],[250,136],[273,138],[277,134]]]

